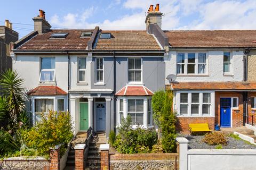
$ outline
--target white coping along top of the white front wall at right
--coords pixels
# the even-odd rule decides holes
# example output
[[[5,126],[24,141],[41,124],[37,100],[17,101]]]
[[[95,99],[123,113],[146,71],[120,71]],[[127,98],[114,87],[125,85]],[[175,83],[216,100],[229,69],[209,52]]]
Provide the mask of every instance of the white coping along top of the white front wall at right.
[[[256,149],[190,149],[188,155],[256,155]]]

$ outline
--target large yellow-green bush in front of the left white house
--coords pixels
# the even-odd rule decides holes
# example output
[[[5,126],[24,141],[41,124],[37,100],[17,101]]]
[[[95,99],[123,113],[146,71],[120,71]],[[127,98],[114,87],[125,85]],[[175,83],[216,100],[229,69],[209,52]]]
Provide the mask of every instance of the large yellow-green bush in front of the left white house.
[[[61,154],[67,143],[73,138],[73,127],[69,113],[50,112],[42,114],[42,121],[33,128],[22,131],[22,139],[28,148],[37,149],[38,156],[49,158],[49,149],[61,143]]]

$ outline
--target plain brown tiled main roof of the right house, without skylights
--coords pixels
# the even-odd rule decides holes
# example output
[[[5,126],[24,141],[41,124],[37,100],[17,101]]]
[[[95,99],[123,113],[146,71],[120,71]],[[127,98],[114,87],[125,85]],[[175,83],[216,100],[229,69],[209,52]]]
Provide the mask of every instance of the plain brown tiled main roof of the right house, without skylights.
[[[256,47],[256,30],[164,31],[171,47]]]

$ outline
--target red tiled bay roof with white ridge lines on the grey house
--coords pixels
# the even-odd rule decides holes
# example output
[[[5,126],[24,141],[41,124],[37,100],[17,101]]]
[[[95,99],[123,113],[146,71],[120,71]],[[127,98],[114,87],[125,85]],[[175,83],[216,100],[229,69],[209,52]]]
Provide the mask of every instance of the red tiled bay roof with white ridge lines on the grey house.
[[[116,96],[152,96],[154,93],[145,86],[125,86]]]

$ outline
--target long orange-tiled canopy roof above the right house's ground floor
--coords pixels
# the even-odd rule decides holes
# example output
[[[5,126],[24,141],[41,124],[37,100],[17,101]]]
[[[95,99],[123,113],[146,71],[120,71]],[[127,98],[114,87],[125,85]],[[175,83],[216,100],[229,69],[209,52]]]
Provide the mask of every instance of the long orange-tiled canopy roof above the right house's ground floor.
[[[256,90],[256,82],[177,82],[174,90]],[[167,85],[166,89],[170,89]]]

